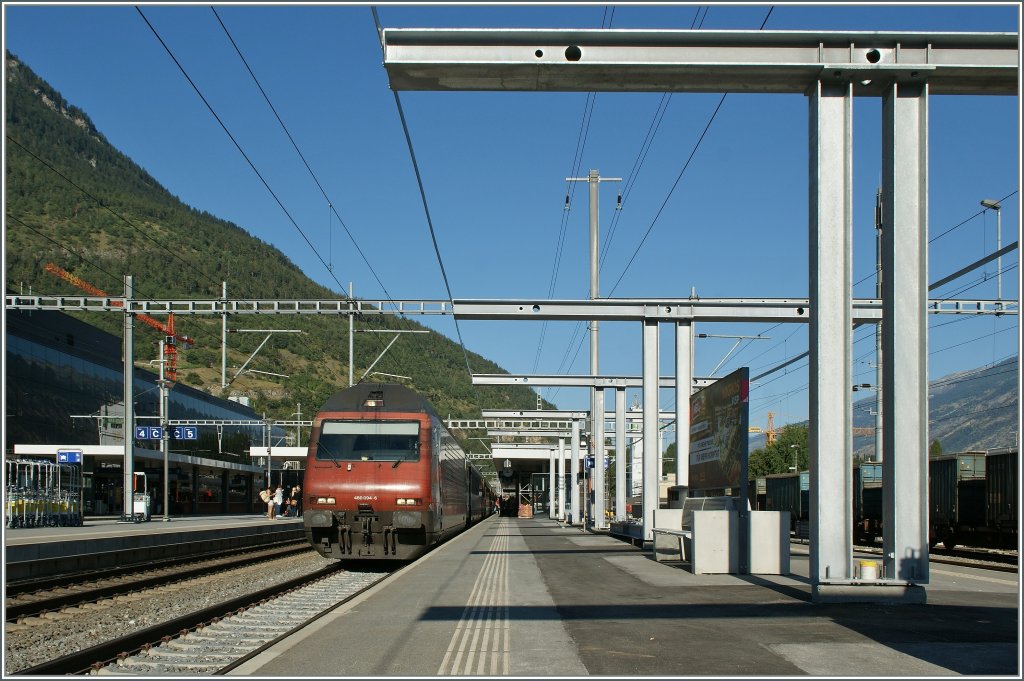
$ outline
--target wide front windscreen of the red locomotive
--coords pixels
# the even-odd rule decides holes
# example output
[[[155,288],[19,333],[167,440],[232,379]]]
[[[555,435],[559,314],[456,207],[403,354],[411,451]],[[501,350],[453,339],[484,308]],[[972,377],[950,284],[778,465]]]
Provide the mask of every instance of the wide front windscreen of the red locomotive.
[[[419,461],[420,424],[417,421],[325,421],[316,440],[316,459]]]

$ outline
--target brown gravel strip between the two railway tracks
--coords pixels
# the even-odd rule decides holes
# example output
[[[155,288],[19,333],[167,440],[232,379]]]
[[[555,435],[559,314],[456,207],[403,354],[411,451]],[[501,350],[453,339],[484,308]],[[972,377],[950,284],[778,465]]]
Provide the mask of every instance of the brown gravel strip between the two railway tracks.
[[[46,620],[32,618],[25,624],[5,624],[4,676],[120,638],[126,632],[309,574],[334,562],[310,550],[308,554],[268,559],[141,594],[68,608],[45,615]]]

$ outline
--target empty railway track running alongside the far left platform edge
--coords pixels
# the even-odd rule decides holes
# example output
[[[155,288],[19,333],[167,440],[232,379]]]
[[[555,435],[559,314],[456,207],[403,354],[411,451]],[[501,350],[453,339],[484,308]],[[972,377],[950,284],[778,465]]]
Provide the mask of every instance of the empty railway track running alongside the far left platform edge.
[[[9,623],[19,623],[27,618],[66,611],[68,608],[82,607],[103,599],[232,569],[266,560],[268,557],[308,552],[309,545],[305,542],[284,542],[256,550],[248,549],[240,552],[234,549],[209,554],[202,560],[189,558],[154,561],[144,566],[135,565],[100,573],[63,574],[14,583],[7,585],[6,588],[4,620]]]

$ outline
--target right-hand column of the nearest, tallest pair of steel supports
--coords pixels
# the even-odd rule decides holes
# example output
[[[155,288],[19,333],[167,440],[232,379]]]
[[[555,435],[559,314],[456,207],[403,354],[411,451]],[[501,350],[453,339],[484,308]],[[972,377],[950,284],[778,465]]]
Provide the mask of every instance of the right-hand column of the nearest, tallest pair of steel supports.
[[[928,574],[928,85],[882,98],[885,576]]]

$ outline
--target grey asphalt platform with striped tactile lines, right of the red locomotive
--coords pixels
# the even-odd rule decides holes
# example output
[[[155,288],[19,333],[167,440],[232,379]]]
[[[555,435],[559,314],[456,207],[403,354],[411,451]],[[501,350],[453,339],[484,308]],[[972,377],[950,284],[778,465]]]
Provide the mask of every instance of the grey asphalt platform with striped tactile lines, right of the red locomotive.
[[[927,605],[812,603],[788,576],[693,574],[607,535],[493,517],[230,675],[1020,678],[1012,572],[931,569]]]

